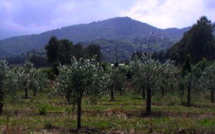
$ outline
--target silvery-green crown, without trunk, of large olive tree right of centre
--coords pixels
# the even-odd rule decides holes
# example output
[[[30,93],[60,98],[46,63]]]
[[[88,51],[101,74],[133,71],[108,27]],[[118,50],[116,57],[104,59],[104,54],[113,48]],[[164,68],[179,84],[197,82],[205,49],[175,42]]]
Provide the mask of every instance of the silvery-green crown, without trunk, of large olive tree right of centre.
[[[143,54],[141,59],[135,58],[130,66],[133,74],[132,83],[139,88],[147,84],[153,90],[159,89],[161,86],[166,88],[175,80],[174,63],[170,60],[160,63],[152,58],[152,54]]]

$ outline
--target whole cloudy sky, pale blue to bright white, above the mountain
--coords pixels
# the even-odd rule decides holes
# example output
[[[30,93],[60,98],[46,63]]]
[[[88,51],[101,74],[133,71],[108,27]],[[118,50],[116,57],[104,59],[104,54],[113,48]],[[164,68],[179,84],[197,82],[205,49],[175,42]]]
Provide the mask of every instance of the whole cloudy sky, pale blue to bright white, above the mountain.
[[[183,28],[203,15],[215,22],[215,0],[0,0],[0,39],[125,16]]]

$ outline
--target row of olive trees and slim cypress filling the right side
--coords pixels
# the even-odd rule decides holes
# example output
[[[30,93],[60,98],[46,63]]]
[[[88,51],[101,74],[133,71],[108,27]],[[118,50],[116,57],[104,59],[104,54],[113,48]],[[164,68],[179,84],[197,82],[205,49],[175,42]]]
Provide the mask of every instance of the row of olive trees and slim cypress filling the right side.
[[[208,65],[206,60],[202,60],[197,65],[191,65],[188,55],[183,65],[182,71],[178,71],[172,61],[167,60],[160,63],[152,58],[151,54],[143,54],[142,57],[135,57],[130,63],[132,70],[132,85],[134,89],[141,90],[142,98],[147,98],[146,113],[151,114],[152,92],[161,93],[162,96],[168,92],[176,90],[184,97],[184,89],[187,90],[187,106],[191,106],[191,96],[194,93],[203,93],[211,90],[211,101],[214,102],[215,90],[215,64]]]

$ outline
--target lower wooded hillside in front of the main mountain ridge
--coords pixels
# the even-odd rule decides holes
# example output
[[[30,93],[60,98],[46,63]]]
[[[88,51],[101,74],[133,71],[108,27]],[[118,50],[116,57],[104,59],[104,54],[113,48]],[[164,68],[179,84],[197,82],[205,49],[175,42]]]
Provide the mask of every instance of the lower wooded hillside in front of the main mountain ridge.
[[[125,62],[131,58],[134,51],[158,52],[171,47],[174,43],[169,38],[149,34],[135,38],[133,41],[97,39],[81,44],[83,46],[99,45],[103,54],[103,60],[114,63],[116,56],[118,62]]]

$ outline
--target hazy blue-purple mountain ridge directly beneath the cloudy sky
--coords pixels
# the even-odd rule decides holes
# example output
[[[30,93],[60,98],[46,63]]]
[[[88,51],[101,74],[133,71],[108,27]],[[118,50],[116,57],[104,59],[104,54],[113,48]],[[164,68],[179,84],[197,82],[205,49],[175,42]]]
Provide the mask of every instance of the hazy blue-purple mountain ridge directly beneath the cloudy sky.
[[[137,38],[154,33],[176,42],[182,38],[183,33],[188,29],[159,29],[128,17],[117,17],[90,24],[63,27],[37,35],[17,36],[0,40],[0,50],[5,53],[0,54],[0,56],[15,56],[31,50],[43,49],[51,36],[56,36],[58,39],[69,39],[74,43],[98,39],[134,42]]]

